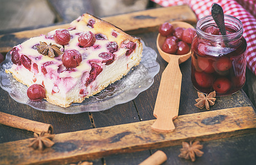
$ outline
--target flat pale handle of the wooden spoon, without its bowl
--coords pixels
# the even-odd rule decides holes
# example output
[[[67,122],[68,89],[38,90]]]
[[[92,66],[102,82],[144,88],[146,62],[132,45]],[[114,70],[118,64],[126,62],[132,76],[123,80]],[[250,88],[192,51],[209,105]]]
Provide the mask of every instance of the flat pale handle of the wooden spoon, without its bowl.
[[[182,81],[178,59],[178,56],[170,56],[170,61],[162,73],[154,108],[156,121],[151,125],[151,128],[156,131],[168,132],[175,130],[172,120],[178,116]]]

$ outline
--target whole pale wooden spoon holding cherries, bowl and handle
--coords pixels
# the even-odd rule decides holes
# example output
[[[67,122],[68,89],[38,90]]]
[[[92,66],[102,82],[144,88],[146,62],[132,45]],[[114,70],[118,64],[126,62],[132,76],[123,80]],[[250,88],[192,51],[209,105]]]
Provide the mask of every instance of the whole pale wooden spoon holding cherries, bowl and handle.
[[[192,25],[181,21],[174,21],[171,22],[171,24],[174,28],[194,28]],[[161,46],[164,43],[165,38],[166,37],[158,34],[156,39],[157,49],[161,57],[164,58],[166,62],[168,62],[168,65],[162,73],[154,108],[154,116],[156,117],[156,121],[151,126],[152,129],[161,132],[175,130],[175,125],[173,124],[172,120],[176,119],[178,116],[182,80],[179,64],[183,63],[191,56],[191,47],[189,53],[184,55],[169,54],[162,51]]]

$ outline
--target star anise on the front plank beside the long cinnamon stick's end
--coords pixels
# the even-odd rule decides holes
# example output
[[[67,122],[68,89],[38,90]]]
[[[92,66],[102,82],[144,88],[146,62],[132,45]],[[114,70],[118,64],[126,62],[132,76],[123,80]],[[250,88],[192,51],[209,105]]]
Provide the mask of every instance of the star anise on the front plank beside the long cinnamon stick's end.
[[[29,147],[33,147],[35,150],[43,150],[46,147],[51,147],[55,143],[52,140],[54,135],[45,133],[44,131],[39,135],[34,133],[35,138],[31,140]]]

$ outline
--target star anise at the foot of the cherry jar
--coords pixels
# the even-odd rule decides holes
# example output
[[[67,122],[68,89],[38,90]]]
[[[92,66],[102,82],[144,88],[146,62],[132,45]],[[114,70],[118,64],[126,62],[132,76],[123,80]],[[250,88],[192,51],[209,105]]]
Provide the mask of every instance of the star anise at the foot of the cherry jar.
[[[216,92],[210,92],[209,95],[206,95],[206,97],[204,96],[204,94],[197,92],[197,95],[199,98],[195,99],[195,101],[197,101],[197,103],[194,105],[200,109],[203,109],[204,107],[209,110],[210,106],[213,106],[216,100]]]

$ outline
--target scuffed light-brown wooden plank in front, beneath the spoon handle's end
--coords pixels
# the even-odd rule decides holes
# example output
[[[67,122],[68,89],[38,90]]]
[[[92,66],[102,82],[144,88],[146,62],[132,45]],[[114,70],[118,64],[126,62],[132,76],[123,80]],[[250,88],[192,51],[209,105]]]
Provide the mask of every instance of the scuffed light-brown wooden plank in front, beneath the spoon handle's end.
[[[30,139],[0,144],[0,164],[68,163],[114,153],[180,145],[184,140],[209,141],[255,133],[252,107],[236,107],[179,116],[172,133],[158,133],[154,120],[55,135],[50,149],[34,151]],[[104,137],[104,138],[102,138]]]

